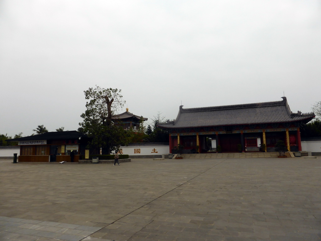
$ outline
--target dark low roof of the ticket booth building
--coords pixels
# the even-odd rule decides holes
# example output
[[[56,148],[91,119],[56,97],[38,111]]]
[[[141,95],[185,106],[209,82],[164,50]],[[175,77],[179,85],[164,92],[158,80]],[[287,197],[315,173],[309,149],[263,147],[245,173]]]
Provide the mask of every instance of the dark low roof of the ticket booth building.
[[[53,131],[53,132],[46,132],[39,135],[33,136],[26,136],[21,138],[10,139],[6,141],[23,141],[23,140],[63,140],[63,139],[78,139],[81,138],[88,138],[87,135],[81,134],[76,130],[69,130],[69,131]]]

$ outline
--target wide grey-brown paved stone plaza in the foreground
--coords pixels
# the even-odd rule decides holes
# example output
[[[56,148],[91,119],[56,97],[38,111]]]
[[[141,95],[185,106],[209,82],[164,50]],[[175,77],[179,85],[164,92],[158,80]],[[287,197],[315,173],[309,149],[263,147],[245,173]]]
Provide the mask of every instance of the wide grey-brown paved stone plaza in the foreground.
[[[0,161],[0,240],[320,240],[321,157]]]

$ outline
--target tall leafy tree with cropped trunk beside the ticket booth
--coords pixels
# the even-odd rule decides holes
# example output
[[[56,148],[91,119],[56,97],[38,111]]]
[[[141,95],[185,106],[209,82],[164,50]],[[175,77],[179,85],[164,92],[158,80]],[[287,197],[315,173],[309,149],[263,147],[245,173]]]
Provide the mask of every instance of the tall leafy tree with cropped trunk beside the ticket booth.
[[[79,125],[92,138],[90,146],[96,150],[102,148],[102,154],[110,154],[122,145],[126,145],[128,134],[112,121],[112,116],[125,101],[118,89],[104,89],[96,85],[84,91],[86,111],[82,113],[83,121]]]

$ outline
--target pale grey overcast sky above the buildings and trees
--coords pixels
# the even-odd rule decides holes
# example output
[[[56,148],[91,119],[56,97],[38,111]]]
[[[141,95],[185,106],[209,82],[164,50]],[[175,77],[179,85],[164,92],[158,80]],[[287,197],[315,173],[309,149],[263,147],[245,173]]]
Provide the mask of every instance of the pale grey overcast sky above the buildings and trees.
[[[320,0],[0,0],[0,134],[78,129],[83,91],[129,112],[320,97]],[[149,122],[148,121],[148,122]]]

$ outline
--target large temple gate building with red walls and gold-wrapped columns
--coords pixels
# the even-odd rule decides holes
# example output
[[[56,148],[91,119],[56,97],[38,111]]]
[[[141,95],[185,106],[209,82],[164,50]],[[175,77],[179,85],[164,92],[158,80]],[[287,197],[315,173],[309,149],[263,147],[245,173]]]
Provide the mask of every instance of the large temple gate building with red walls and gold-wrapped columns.
[[[300,127],[315,114],[293,113],[282,101],[183,109],[177,118],[158,126],[169,131],[169,151],[184,146],[183,153],[274,151],[283,140],[290,151],[301,151]],[[265,144],[265,145],[262,145]]]

